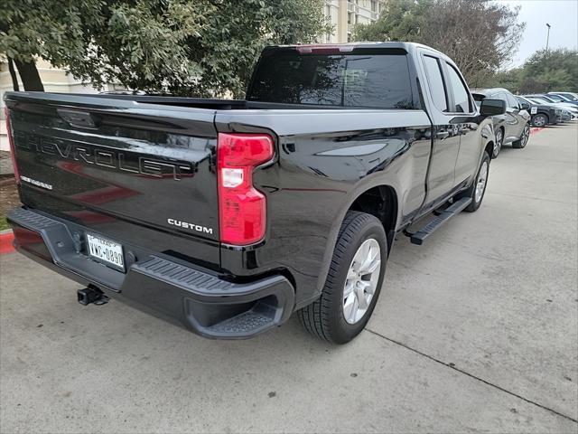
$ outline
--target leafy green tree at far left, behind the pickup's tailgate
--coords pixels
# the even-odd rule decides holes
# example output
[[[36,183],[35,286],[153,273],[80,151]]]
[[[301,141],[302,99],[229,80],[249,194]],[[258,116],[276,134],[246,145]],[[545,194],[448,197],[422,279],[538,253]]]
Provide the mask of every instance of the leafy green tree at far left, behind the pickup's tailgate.
[[[96,86],[157,90],[200,71],[184,42],[200,33],[207,9],[205,0],[5,0],[0,52],[14,59],[25,90],[43,90],[37,57]]]

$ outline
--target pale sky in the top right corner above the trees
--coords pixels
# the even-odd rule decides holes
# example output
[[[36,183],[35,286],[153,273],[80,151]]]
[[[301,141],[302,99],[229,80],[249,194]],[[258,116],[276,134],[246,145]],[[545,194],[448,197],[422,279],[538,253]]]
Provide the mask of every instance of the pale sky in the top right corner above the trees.
[[[545,48],[547,27],[550,24],[548,48],[578,47],[578,0],[499,0],[509,6],[521,6],[520,22],[526,30],[509,67],[520,66],[536,50]]]

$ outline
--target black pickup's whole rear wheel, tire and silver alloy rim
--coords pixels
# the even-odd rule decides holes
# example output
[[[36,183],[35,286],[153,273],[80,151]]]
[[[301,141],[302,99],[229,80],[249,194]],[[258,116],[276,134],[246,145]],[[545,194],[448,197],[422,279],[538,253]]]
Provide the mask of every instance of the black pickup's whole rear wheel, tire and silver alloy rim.
[[[378,301],[387,260],[379,220],[350,211],[341,223],[321,297],[299,311],[305,329],[334,344],[359,335]]]

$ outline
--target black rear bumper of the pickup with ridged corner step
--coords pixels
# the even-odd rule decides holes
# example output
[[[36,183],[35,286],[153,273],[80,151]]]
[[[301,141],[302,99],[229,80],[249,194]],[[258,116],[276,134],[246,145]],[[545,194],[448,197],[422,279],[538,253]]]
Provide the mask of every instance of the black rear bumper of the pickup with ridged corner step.
[[[89,259],[82,226],[27,209],[13,210],[7,218],[14,246],[24,255],[199,335],[251,337],[284,323],[294,309],[294,288],[280,275],[235,283],[135,246],[126,246],[123,273]]]

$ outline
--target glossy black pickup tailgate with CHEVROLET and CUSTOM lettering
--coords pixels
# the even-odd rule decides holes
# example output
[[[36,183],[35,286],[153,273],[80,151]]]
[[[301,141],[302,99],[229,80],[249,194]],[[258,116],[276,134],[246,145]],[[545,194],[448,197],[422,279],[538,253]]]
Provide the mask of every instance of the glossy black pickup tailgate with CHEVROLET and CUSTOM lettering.
[[[24,205],[219,266],[213,110],[35,92],[5,100]]]

